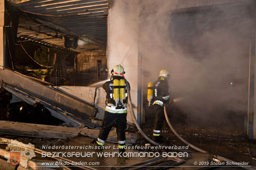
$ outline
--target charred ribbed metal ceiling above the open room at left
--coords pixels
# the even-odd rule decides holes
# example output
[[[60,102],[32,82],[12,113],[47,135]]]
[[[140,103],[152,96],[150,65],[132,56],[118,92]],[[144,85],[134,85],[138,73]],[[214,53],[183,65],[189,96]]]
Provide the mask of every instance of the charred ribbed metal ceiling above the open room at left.
[[[85,52],[105,51],[108,0],[11,0],[21,12],[17,36],[20,42]],[[78,47],[66,48],[65,38],[78,39]]]

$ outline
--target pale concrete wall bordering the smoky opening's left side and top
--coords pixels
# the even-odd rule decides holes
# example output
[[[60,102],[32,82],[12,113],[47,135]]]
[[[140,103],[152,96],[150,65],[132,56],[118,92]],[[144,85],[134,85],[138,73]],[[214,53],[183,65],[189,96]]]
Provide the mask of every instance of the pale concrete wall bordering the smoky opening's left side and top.
[[[141,59],[138,53],[140,13],[239,1],[244,0],[111,0],[111,7],[108,10],[107,44],[109,72],[114,65],[121,64],[124,67],[125,77],[131,85],[132,102],[137,107],[140,99],[143,101],[140,97],[142,93],[140,92],[140,80],[143,81],[143,77],[140,77]],[[143,110],[142,105],[138,107],[138,110],[140,109]],[[137,113],[137,109],[134,111]],[[143,119],[144,115],[140,117]],[[131,119],[130,114],[128,114],[128,119]]]

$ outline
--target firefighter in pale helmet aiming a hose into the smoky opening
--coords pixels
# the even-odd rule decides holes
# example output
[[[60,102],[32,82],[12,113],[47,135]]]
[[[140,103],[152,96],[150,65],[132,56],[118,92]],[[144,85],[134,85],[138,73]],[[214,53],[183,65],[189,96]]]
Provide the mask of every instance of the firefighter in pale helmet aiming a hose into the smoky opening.
[[[168,80],[170,79],[170,73],[162,69],[159,73],[158,80],[154,82],[153,87],[153,109],[156,113],[153,140],[156,142],[162,141],[161,129],[163,125],[164,117],[164,105],[171,105],[173,100],[170,100]]]

